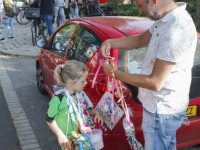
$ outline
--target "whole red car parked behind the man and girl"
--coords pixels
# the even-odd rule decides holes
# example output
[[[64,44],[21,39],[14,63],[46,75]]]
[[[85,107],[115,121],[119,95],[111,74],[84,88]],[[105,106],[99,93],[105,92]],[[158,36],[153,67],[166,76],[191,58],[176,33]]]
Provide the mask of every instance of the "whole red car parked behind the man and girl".
[[[138,35],[147,30],[153,21],[141,17],[89,17],[76,18],[65,22],[48,40],[38,40],[38,46],[43,47],[36,60],[36,76],[38,89],[42,94],[53,95],[54,69],[58,64],[64,64],[67,60],[76,59],[86,64],[89,68],[88,84],[84,91],[91,99],[94,106],[97,105],[103,93],[106,91],[105,73],[100,69],[94,88],[92,81],[99,66],[99,48],[103,41],[109,38],[121,38],[130,35]],[[147,47],[134,51],[121,49],[111,50],[111,56],[115,57],[115,66],[122,71],[139,73]],[[200,44],[198,43],[195,54],[193,77],[190,88],[190,103],[187,117],[177,132],[177,148],[184,148],[200,143]],[[142,106],[137,98],[138,88],[122,83],[123,94],[127,105],[132,111],[131,120],[135,125],[136,138],[144,144],[141,130]],[[116,98],[117,101],[117,98]],[[120,106],[120,104],[119,104]],[[128,150],[130,149],[127,137],[122,125],[121,117],[116,126],[110,130],[106,125],[103,130],[104,150]]]

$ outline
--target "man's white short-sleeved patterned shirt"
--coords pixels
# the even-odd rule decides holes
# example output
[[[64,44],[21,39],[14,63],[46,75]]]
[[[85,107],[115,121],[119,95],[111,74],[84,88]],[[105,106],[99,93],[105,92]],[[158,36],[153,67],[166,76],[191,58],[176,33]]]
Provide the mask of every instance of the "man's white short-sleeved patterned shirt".
[[[197,31],[185,3],[157,20],[152,33],[141,74],[150,75],[156,58],[175,62],[175,67],[160,91],[139,88],[138,98],[152,113],[173,114],[185,111],[189,103],[191,68],[197,44]]]

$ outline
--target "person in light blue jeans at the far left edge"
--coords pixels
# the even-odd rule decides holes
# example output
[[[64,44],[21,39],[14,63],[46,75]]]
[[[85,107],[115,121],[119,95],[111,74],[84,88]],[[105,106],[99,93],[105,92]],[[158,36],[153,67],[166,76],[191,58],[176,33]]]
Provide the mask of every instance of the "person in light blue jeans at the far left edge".
[[[4,24],[4,31],[3,31],[3,35],[2,38],[0,39],[0,41],[5,41],[6,40],[6,36],[7,36],[7,32],[8,32],[8,26],[10,26],[11,29],[11,37],[9,37],[9,39],[14,39],[14,26],[13,26],[13,1],[12,0],[3,0],[3,5],[4,5],[4,10],[5,10],[5,16],[8,17],[8,21],[9,24]]]

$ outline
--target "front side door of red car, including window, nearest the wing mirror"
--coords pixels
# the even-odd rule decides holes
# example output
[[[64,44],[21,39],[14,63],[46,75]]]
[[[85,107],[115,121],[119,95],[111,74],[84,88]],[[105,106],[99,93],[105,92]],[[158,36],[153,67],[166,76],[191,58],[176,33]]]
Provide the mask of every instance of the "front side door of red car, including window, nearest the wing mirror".
[[[47,88],[53,91],[53,85],[57,84],[53,78],[54,69],[59,64],[66,62],[65,55],[70,39],[76,28],[76,24],[68,24],[58,30],[48,41],[48,50],[43,51],[44,77]]]

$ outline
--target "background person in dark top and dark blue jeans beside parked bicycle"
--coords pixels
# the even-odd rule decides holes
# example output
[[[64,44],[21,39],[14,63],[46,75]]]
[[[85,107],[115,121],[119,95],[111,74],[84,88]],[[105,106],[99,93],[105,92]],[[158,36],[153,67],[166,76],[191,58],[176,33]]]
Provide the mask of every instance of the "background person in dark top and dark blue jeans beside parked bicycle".
[[[41,15],[45,21],[49,36],[53,33],[53,8],[54,0],[34,0],[30,7],[40,7]]]

